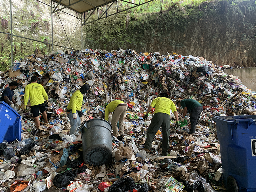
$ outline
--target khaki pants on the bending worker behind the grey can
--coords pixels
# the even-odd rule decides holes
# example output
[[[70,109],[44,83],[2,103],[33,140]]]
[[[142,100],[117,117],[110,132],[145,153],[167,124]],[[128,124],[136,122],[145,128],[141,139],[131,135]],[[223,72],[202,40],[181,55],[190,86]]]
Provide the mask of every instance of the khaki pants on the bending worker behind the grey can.
[[[124,116],[126,112],[126,106],[116,107],[115,111],[112,114],[111,125],[113,129],[113,134],[115,137],[122,135],[124,133]],[[117,129],[117,122],[119,121],[119,134]]]

